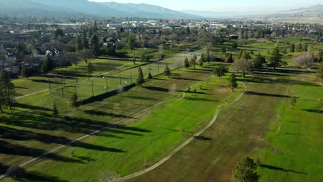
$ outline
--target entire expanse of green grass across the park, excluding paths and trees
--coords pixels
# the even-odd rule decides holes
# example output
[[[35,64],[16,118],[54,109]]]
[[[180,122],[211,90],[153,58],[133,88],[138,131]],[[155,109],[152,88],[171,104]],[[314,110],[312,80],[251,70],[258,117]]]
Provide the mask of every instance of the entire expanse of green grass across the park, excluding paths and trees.
[[[221,47],[229,48],[235,41],[215,45],[211,51],[217,57],[224,57],[220,53]],[[268,51],[277,43],[288,46],[287,43],[299,41],[248,39],[248,44],[239,45],[239,48],[253,50],[252,57],[258,52],[268,57]],[[322,43],[309,39],[304,42],[309,44],[311,53],[322,48]],[[124,51],[128,52],[128,57],[134,52],[151,55],[156,52],[154,49]],[[75,88],[80,99],[88,99],[92,97],[92,84],[95,96],[115,90],[119,85],[124,87],[135,82],[136,66],[141,63],[137,60],[137,65],[133,65],[131,59],[114,57],[93,59],[97,70],[92,75],[95,78],[90,80],[84,72],[85,63],[52,72],[50,81],[56,89],[51,94],[41,92],[23,97],[17,100],[13,110],[0,114],[0,173],[80,136],[119,123],[17,170],[16,177],[3,181],[108,181],[143,170],[203,128],[219,105],[233,101],[241,94],[241,84],[235,92],[228,88],[229,74],[222,79],[213,77],[202,81],[212,75],[210,70],[217,63],[197,66],[197,70],[177,70],[184,58],[190,59],[193,54],[166,48],[167,51],[166,59],[153,59],[141,68],[146,78],[148,72],[161,74],[167,63],[173,70],[170,78],[157,76],[143,88],[135,87],[112,97],[89,100],[79,110],[72,108],[69,101]],[[235,50],[233,54],[238,52]],[[305,52],[284,54],[283,59],[288,62],[286,67],[276,71],[264,69],[239,78],[246,84],[247,92],[237,103],[220,111],[217,121],[201,139],[194,139],[155,170],[130,181],[228,181],[237,161],[244,155],[260,160],[260,181],[323,181],[320,155],[323,153],[323,87],[315,74],[304,74],[304,70],[293,65],[293,57],[298,54]],[[120,70],[100,76],[122,65]],[[78,75],[76,87],[66,84],[61,90],[62,74],[66,83],[75,83],[75,75]],[[186,92],[184,99],[176,100],[199,81],[202,82],[190,88],[191,92]],[[172,83],[177,85],[174,96],[169,92]],[[46,77],[17,79],[14,84],[18,86],[17,97],[48,89]],[[297,98],[293,108],[291,96]],[[59,117],[52,116],[54,102]],[[160,104],[150,108],[157,103]],[[136,114],[146,108],[150,109]]]

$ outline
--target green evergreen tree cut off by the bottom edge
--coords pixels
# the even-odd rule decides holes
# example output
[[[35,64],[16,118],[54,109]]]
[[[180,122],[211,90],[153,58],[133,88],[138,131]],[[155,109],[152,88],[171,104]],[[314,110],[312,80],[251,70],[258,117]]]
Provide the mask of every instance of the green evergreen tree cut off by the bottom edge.
[[[244,156],[241,161],[235,166],[233,170],[234,182],[257,182],[259,175],[257,174],[257,163],[248,156]]]

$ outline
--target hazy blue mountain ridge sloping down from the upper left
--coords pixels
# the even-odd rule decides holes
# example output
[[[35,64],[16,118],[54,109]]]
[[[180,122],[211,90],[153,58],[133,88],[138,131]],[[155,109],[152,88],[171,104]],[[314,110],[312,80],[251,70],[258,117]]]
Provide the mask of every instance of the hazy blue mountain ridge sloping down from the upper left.
[[[135,3],[97,3],[88,0],[0,0],[0,16],[68,16],[141,18],[200,18],[160,6]]]

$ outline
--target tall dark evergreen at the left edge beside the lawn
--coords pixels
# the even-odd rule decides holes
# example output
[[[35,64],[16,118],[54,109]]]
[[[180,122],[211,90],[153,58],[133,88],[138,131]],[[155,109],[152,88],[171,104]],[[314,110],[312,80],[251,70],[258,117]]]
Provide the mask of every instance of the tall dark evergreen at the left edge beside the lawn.
[[[11,82],[7,71],[2,71],[0,76],[0,105],[7,105],[11,109],[14,103],[14,94],[16,93],[16,90],[14,89],[14,84]]]

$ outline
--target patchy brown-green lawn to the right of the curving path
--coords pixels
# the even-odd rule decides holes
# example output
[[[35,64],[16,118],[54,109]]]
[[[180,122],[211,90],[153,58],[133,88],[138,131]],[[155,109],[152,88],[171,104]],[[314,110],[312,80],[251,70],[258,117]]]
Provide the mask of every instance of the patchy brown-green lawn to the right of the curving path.
[[[322,181],[323,87],[315,75],[258,72],[242,80],[248,91],[219,113],[203,134],[210,140],[194,140],[129,181],[229,181],[244,155],[260,159],[260,181]],[[290,95],[298,97],[293,109]]]

